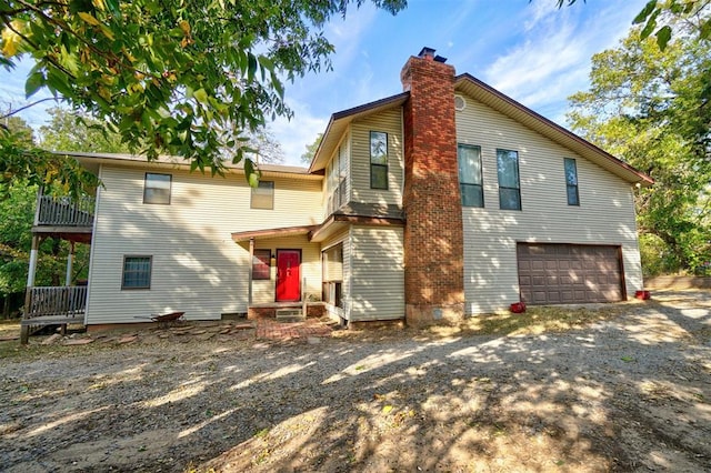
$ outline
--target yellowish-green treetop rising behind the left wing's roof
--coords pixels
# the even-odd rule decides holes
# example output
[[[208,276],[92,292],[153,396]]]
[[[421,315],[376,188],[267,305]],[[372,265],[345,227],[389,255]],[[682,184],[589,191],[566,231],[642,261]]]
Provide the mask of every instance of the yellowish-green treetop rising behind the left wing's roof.
[[[86,115],[76,114],[59,107],[48,110],[50,120],[40,127],[40,143],[52,151],[101,151],[107,153],[128,152],[119,134],[107,130],[106,123]]]

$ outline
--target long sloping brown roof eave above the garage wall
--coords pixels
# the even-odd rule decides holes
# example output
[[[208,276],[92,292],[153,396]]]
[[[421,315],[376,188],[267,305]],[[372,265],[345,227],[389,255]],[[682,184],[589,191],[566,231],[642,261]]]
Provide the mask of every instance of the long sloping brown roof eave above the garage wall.
[[[572,131],[522,105],[469,73],[463,73],[454,78],[454,89],[577,152],[581,157],[629,182],[640,183],[641,185],[651,185],[654,183],[654,180],[645,173],[580,138]]]

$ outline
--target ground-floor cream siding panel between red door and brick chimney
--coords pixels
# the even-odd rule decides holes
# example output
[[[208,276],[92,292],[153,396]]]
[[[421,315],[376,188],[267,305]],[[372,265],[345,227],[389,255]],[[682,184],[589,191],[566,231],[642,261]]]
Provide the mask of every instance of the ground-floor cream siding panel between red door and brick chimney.
[[[351,321],[404,318],[400,227],[351,227]]]

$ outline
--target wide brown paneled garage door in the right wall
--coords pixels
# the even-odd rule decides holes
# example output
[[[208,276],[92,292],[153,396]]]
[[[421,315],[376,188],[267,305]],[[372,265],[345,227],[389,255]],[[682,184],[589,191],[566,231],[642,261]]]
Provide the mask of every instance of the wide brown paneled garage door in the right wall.
[[[517,253],[528,304],[622,300],[620,246],[519,243]]]

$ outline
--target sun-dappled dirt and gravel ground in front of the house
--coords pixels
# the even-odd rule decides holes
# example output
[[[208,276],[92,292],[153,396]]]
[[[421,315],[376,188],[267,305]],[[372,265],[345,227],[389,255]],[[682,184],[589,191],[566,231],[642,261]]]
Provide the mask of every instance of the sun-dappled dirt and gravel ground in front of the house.
[[[3,341],[0,470],[710,471],[711,291],[653,298],[290,340]]]

